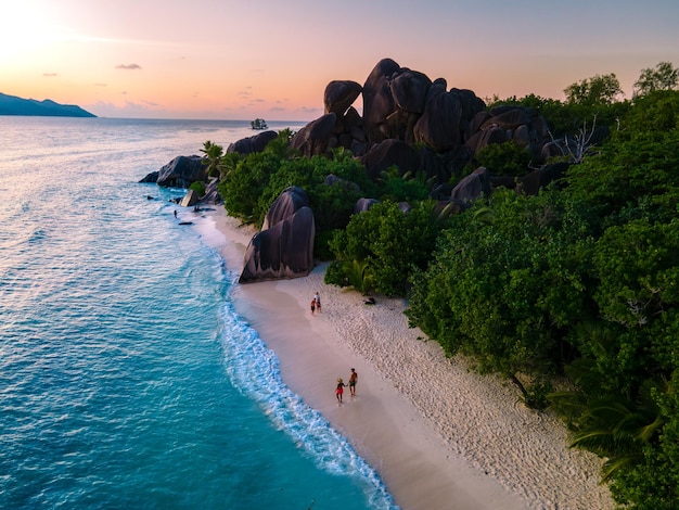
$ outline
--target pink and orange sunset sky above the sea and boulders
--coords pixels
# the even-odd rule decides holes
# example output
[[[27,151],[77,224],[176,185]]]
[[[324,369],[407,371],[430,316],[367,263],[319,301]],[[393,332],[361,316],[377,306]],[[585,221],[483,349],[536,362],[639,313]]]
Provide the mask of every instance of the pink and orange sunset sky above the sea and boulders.
[[[679,66],[678,0],[0,0],[0,92],[106,117],[311,120],[375,64],[563,99]],[[357,104],[360,112],[360,104]]]

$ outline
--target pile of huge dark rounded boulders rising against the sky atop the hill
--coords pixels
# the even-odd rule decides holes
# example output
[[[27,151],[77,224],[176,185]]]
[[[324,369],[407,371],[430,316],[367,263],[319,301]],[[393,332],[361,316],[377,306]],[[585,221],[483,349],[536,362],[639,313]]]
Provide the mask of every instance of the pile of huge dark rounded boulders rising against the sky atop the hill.
[[[362,117],[353,106],[361,94]],[[551,141],[547,122],[534,110],[503,105],[487,111],[472,90],[448,89],[444,78],[431,80],[392,59],[377,62],[362,87],[350,80],[331,81],[323,105],[325,114],[300,129],[293,140],[303,155],[330,155],[333,149],[345,148],[364,157],[387,140],[422,143],[445,160],[446,168],[436,164],[415,169],[430,177],[426,171],[434,169],[441,179],[459,175],[487,145],[510,140],[531,151],[539,164],[547,153],[542,146]],[[368,160],[375,167],[386,165],[375,162],[374,153]]]

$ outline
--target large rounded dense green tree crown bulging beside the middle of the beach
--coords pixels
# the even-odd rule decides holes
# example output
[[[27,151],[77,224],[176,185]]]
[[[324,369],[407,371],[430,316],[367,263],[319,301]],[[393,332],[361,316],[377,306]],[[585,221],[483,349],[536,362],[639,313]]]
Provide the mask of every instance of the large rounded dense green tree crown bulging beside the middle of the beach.
[[[434,260],[415,275],[411,323],[484,371],[554,370],[571,356],[563,327],[587,314],[579,228],[555,192],[496,191],[488,204],[451,218]]]

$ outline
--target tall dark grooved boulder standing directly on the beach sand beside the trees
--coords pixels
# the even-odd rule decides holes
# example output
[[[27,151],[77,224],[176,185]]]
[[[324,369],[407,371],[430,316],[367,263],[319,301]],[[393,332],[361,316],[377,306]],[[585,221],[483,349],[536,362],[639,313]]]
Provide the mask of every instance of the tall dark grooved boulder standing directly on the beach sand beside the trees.
[[[309,199],[287,188],[273,202],[262,230],[245,251],[241,283],[307,276],[313,269],[316,225]]]

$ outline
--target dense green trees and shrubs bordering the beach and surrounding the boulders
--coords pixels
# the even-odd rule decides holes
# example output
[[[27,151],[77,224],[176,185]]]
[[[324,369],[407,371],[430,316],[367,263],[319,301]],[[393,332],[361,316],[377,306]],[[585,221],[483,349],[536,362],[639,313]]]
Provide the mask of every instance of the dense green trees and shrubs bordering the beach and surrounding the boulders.
[[[631,100],[615,75],[565,89],[566,101],[510,98],[536,109],[575,150],[565,177],[528,196],[496,189],[460,214],[427,199],[426,175],[370,180],[346,152],[302,158],[283,131],[262,153],[204,152],[230,215],[261,225],[299,186],[317,221],[325,281],[409,297],[407,316],[452,356],[515,382],[549,407],[573,446],[606,459],[616,501],[679,508],[679,92],[668,63],[644,69]],[[588,143],[597,126],[605,142]],[[485,152],[485,154],[484,154]],[[465,171],[529,170],[512,142]],[[328,186],[333,175],[341,186]],[[463,175],[457,176],[458,179]],[[359,197],[379,200],[353,215]],[[408,202],[406,208],[403,202]],[[405,212],[407,211],[407,212]]]

